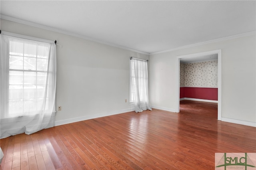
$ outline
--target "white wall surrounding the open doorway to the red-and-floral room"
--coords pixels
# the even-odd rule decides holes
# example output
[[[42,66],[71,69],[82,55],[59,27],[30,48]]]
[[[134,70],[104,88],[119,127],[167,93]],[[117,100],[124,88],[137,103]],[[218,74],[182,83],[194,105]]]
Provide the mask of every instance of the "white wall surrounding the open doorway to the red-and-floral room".
[[[175,111],[178,55],[222,49],[222,121],[256,127],[256,36],[150,55],[150,103]]]

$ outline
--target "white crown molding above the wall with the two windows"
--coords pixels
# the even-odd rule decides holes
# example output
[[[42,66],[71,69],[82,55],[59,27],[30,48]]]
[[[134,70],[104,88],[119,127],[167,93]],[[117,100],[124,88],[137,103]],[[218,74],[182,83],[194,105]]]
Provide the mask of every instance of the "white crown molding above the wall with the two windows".
[[[42,25],[42,24],[37,24],[37,23],[34,23],[34,22],[29,22],[29,21],[26,21],[26,20],[21,20],[21,19],[14,18],[14,17],[11,17],[11,16],[6,16],[6,15],[3,15],[3,14],[0,15],[0,18],[4,19],[4,20],[8,20],[8,21],[28,25],[28,26],[33,26],[33,27],[36,27],[36,28],[41,28],[41,29],[44,29],[44,30],[58,32],[58,33],[61,33],[61,34],[66,34],[68,36],[74,36],[74,37],[82,38],[82,39],[85,39],[85,40],[90,40],[90,41],[93,41],[93,42],[98,42],[98,43],[102,43],[102,44],[105,44],[105,45],[110,45],[112,47],[118,47],[118,48],[121,48],[121,49],[126,49],[126,50],[133,51],[133,52],[136,52],[136,53],[150,55],[150,53],[147,53],[147,52],[144,52],[144,51],[139,51],[139,50],[136,50],[136,49],[124,47],[122,45],[116,45],[116,44],[113,44],[113,43],[104,42],[104,41],[94,39],[94,38],[90,38],[90,37],[87,37],[87,36],[83,36],[83,35],[80,35],[80,34],[67,32],[67,31],[64,31],[64,30],[61,30],[61,29],[45,26],[45,25]]]

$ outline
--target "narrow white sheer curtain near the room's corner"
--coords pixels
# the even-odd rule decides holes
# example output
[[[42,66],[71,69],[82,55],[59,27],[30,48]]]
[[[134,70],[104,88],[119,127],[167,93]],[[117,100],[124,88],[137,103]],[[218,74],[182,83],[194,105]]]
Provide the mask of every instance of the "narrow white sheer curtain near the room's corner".
[[[130,102],[135,111],[152,110],[148,99],[148,62],[130,59]]]

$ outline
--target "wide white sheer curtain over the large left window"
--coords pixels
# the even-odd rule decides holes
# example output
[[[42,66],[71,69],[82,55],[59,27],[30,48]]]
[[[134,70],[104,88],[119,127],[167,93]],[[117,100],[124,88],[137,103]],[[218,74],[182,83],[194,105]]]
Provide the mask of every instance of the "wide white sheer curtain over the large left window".
[[[56,45],[0,34],[0,138],[54,126]]]

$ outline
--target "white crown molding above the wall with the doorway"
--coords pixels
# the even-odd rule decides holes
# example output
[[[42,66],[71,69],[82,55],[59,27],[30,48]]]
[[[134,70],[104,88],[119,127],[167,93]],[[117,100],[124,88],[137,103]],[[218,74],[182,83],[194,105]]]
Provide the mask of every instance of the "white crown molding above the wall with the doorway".
[[[194,44],[190,44],[190,45],[184,45],[184,46],[181,46],[181,47],[177,47],[177,48],[173,48],[173,49],[168,49],[168,50],[164,50],[164,51],[158,51],[158,52],[150,53],[150,55],[160,54],[160,53],[167,53],[167,52],[176,51],[176,50],[179,50],[179,49],[190,48],[190,47],[196,47],[196,46],[199,46],[199,45],[204,45],[204,44],[209,44],[209,43],[215,43],[215,42],[221,42],[221,41],[225,41],[225,40],[232,40],[232,39],[234,39],[234,38],[252,36],[252,35],[255,35],[255,34],[256,34],[256,31],[247,32],[247,33],[238,34],[238,35],[234,35],[234,36],[228,36],[228,37],[224,37],[224,38],[218,38],[218,39],[210,40],[210,41],[206,41],[206,42],[200,42],[200,43],[194,43]]]

